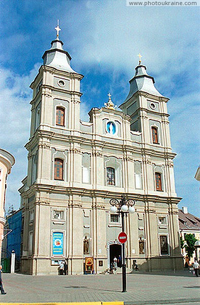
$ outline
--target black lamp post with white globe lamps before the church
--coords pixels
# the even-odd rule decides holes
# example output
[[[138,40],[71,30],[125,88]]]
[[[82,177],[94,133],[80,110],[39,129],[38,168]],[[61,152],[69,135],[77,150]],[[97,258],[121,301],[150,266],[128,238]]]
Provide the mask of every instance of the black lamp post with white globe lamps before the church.
[[[121,214],[121,225],[122,232],[124,232],[124,215],[128,212],[131,214],[135,212],[135,200],[125,199],[124,195],[121,195],[121,200],[110,199],[110,211],[112,213],[118,212],[119,216]],[[122,243],[122,292],[126,292],[126,264],[125,264],[125,245]]]

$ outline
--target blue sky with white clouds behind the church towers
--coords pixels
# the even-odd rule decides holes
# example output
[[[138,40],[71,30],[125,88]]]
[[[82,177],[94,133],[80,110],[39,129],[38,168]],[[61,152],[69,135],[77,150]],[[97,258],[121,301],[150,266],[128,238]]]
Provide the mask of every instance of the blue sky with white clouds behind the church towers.
[[[81,81],[81,119],[103,107],[112,94],[120,105],[129,92],[138,54],[170,98],[170,131],[179,208],[200,217],[199,182],[199,7],[126,7],[126,0],[2,0],[0,3],[0,147],[16,158],[8,177],[6,209],[20,206],[18,189],[27,174],[29,84],[56,38],[72,56]]]

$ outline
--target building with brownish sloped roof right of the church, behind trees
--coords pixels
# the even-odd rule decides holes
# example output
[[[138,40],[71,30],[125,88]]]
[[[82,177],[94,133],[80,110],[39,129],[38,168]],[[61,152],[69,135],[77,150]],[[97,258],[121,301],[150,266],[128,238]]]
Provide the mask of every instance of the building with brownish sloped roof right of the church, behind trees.
[[[183,240],[185,240],[186,234],[193,234],[196,239],[200,240],[200,219],[188,213],[186,206],[183,206],[182,210],[179,209],[179,228]],[[184,257],[184,263],[186,261],[189,263],[184,248],[182,249],[182,255]],[[198,259],[200,258],[199,248],[196,249],[196,253],[194,252],[193,257],[190,259],[190,262],[194,262],[195,257],[197,257]]]

